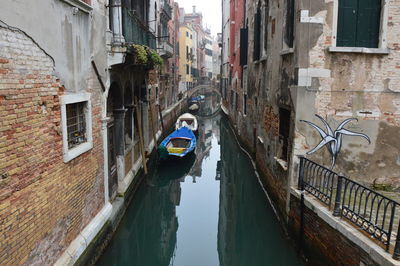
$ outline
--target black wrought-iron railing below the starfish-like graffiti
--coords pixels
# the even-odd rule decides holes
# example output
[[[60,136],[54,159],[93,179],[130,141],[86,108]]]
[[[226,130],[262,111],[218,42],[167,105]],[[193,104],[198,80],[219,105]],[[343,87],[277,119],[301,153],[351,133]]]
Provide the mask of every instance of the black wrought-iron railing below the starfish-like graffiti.
[[[393,258],[400,260],[400,204],[348,177],[300,157],[298,188],[307,191],[342,217],[381,242]],[[397,234],[394,234],[397,225]],[[391,240],[396,237],[394,243]]]

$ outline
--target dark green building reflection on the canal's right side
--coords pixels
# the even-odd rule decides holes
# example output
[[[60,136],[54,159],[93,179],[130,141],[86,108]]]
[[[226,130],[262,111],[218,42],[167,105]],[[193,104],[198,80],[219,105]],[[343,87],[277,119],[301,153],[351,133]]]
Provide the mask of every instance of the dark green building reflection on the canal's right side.
[[[298,265],[251,162],[221,122],[218,253],[221,266]]]

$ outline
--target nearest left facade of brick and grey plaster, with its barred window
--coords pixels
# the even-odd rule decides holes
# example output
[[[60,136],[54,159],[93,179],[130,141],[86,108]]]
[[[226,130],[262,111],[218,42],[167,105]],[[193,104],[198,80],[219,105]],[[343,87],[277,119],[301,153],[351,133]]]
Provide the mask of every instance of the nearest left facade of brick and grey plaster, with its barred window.
[[[105,40],[89,14],[105,20],[103,5],[40,2],[7,1],[0,12],[2,265],[54,263],[106,202],[103,94],[91,65],[105,56],[92,42]],[[10,10],[34,11],[43,27]]]

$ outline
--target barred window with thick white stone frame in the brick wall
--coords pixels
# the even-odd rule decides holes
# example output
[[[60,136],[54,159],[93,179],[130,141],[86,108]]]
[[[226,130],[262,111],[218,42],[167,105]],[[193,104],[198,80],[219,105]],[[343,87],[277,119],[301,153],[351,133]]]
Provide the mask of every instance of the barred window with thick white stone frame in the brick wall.
[[[68,162],[93,147],[90,94],[61,96],[63,158]]]

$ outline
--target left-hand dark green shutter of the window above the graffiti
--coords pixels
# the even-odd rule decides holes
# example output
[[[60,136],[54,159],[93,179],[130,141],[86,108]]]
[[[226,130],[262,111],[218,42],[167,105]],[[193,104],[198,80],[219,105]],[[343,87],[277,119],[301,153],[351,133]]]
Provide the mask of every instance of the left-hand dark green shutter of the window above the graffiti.
[[[337,46],[356,46],[358,0],[339,0]]]

